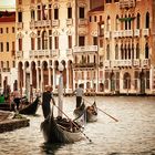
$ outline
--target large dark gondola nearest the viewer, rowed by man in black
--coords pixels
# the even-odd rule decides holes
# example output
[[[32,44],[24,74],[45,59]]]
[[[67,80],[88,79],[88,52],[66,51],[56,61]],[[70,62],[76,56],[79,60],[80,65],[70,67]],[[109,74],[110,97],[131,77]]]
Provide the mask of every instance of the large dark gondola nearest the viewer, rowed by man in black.
[[[53,116],[53,107],[49,115],[41,123],[41,131],[46,143],[74,143],[83,138],[82,127],[74,121]]]

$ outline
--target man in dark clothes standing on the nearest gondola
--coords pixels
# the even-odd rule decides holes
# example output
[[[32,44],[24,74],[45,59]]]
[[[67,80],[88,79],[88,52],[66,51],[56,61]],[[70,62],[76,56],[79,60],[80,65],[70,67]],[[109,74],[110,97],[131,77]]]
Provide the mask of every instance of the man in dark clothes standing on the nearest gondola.
[[[52,100],[52,103],[55,105],[52,91],[53,89],[48,85],[45,86],[45,92],[43,92],[42,94],[42,112],[43,112],[44,118],[46,118],[49,114],[51,113],[51,106],[50,106],[51,100]]]

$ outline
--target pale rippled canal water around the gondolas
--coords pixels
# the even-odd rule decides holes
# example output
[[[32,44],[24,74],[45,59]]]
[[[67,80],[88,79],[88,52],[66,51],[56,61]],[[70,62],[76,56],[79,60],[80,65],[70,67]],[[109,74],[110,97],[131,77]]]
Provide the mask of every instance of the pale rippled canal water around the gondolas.
[[[86,138],[74,144],[45,144],[40,124],[41,106],[29,116],[30,126],[0,134],[0,155],[155,155],[155,97],[97,96],[100,110],[95,123],[85,125]],[[63,111],[73,117],[75,97],[64,97]],[[85,102],[86,103],[86,102]],[[56,114],[56,107],[55,114]]]

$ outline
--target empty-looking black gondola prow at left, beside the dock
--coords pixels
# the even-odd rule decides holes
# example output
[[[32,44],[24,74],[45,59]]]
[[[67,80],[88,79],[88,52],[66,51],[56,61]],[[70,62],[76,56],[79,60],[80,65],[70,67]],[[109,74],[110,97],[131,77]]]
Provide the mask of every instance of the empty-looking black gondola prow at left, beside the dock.
[[[28,105],[24,105],[23,107],[21,107],[19,110],[19,113],[24,114],[24,115],[34,115],[37,113],[38,107],[39,107],[39,103],[40,103],[40,96],[37,96],[34,102],[27,103]]]

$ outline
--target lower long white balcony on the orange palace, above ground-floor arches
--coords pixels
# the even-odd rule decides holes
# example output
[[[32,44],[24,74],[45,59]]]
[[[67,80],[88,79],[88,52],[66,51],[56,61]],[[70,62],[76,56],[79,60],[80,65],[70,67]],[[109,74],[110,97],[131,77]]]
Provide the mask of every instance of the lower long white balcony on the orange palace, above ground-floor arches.
[[[132,60],[114,60],[112,66],[132,66]]]

